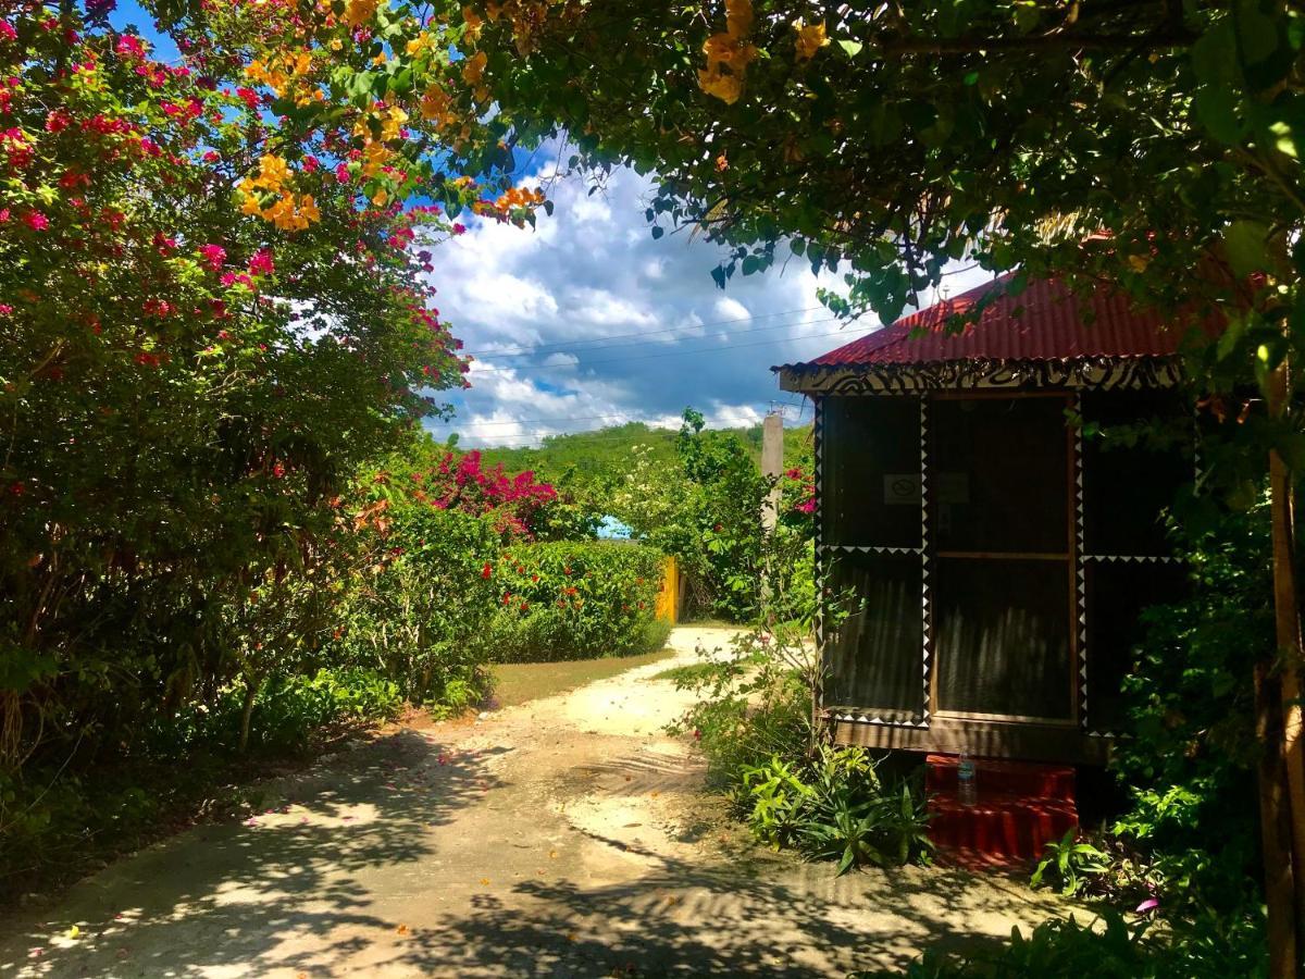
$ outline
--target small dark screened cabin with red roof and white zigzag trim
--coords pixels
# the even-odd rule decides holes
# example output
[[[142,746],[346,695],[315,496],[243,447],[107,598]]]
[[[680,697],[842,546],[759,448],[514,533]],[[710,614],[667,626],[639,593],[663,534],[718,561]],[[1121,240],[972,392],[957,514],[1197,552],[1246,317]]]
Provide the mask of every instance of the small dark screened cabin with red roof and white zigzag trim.
[[[774,368],[814,402],[817,573],[852,599],[820,630],[839,743],[1103,762],[1139,612],[1182,593],[1163,513],[1191,440],[1084,437],[1184,428],[1181,332],[1007,282]]]

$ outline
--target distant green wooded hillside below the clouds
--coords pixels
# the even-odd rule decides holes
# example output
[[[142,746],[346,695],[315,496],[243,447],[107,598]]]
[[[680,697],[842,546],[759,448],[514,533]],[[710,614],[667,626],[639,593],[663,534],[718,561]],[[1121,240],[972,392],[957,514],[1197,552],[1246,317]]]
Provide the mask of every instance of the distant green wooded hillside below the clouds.
[[[750,428],[727,428],[752,450],[761,465],[761,426]],[[793,462],[800,456],[810,453],[810,424],[784,429],[784,461]],[[675,465],[675,429],[651,428],[642,422],[630,422],[611,428],[598,428],[591,432],[545,436],[538,449],[495,449],[480,450],[488,465],[497,462],[509,473],[532,469],[543,473],[561,473],[574,467],[578,471],[602,470],[621,465],[630,457],[636,445],[652,446],[652,457],[658,462]]]

